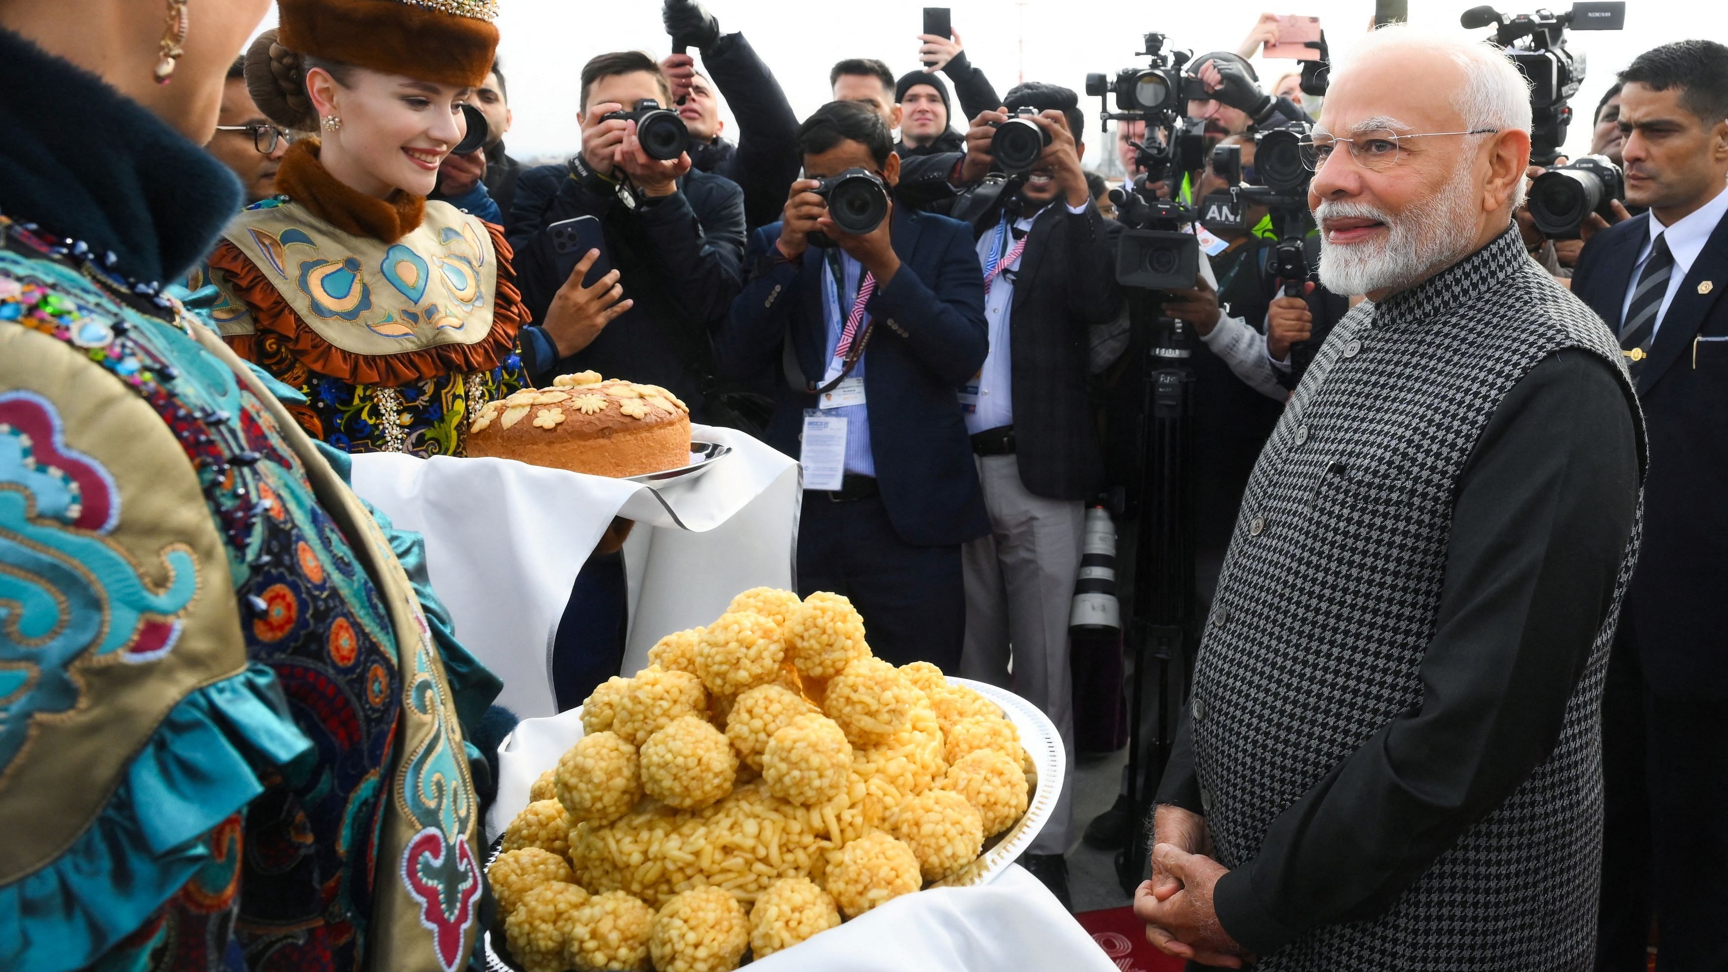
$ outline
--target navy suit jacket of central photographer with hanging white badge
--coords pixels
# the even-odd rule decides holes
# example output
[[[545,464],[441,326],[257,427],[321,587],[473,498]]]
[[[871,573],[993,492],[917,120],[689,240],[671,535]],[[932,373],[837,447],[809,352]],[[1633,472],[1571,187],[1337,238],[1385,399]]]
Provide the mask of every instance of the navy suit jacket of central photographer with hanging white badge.
[[[900,269],[866,304],[876,323],[864,354],[876,483],[902,540],[961,544],[990,528],[956,399],[988,352],[983,271],[964,223],[897,207],[890,230]],[[804,409],[816,407],[828,350],[823,250],[809,247],[785,262],[774,257],[776,240],[779,223],[750,237],[745,266],[755,276],[733,300],[715,350],[722,375],[778,375],[767,442],[798,456]]]

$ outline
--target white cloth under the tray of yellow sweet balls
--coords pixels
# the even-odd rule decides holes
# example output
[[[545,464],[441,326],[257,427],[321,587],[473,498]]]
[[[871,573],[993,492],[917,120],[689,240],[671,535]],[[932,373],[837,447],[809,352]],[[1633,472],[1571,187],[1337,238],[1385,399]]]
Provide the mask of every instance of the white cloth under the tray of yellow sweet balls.
[[[581,735],[577,710],[525,722],[498,751],[494,839]],[[905,894],[748,967],[752,972],[1116,972],[1044,884],[1011,865],[990,884]]]

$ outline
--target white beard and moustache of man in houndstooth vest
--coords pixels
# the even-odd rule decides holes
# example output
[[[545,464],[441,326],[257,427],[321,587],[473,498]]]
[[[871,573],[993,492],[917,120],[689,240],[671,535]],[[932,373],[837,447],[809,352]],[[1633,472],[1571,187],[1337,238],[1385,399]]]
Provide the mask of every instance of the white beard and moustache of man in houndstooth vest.
[[[1320,285],[1332,293],[1401,290],[1469,256],[1476,245],[1476,192],[1471,159],[1433,197],[1398,218],[1363,202],[1324,200],[1317,221],[1375,219],[1386,237],[1362,243],[1327,243],[1320,233]]]

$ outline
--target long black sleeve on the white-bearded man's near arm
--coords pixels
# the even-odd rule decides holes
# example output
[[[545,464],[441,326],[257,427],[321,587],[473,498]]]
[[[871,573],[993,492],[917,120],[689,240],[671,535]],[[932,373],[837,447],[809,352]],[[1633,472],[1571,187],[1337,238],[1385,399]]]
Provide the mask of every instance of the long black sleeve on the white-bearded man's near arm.
[[[1244,948],[1382,913],[1553,749],[1633,527],[1633,421],[1583,350],[1548,356],[1495,409],[1453,504],[1422,703],[1218,880],[1218,920]]]

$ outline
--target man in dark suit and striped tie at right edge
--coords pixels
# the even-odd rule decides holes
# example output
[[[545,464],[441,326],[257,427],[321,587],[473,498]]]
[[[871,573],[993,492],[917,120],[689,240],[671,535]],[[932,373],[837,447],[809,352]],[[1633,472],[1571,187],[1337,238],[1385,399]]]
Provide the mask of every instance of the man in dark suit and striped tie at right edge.
[[[1643,551],[1604,694],[1598,969],[1728,965],[1728,47],[1669,43],[1619,81],[1626,202],[1585,245],[1572,293],[1619,335],[1650,435]]]

